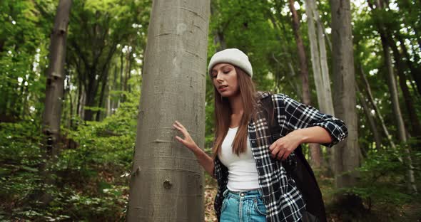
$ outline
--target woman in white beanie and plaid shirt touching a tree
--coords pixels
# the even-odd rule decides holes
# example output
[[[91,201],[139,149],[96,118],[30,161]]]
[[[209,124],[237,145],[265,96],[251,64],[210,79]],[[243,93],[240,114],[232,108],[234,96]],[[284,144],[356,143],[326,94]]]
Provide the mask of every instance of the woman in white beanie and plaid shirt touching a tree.
[[[173,127],[183,134],[178,142],[218,180],[218,220],[305,221],[305,201],[284,166],[294,165],[294,149],[302,143],[331,147],[345,139],[345,124],[287,95],[256,93],[248,56],[236,48],[215,53],[208,71],[215,89],[213,157],[180,122]],[[265,110],[265,99],[273,102],[273,110]],[[279,139],[272,139],[270,122],[278,125]]]

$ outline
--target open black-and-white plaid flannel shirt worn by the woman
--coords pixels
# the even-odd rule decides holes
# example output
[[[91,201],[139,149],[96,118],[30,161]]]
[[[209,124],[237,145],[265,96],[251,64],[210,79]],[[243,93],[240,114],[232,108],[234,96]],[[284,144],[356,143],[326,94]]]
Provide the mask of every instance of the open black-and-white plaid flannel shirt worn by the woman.
[[[287,95],[259,93],[259,99],[271,96],[274,108],[275,122],[280,125],[280,135],[284,137],[295,129],[320,126],[328,130],[333,141],[323,144],[332,147],[348,136],[348,129],[342,120],[326,115],[314,107],[297,102]],[[261,106],[261,105],[260,105]],[[267,221],[300,221],[305,210],[303,196],[298,191],[295,181],[287,175],[283,164],[294,166],[295,154],[291,153],[282,164],[270,157],[269,146],[273,143],[268,122],[263,111],[258,109],[258,120],[250,120],[248,136],[258,170],[258,181],[263,191],[263,200],[266,206]],[[275,138],[278,138],[275,137]],[[218,181],[218,192],[215,196],[215,212],[220,218],[220,208],[223,202],[223,191],[227,189],[228,168],[218,157],[214,160],[214,176]]]

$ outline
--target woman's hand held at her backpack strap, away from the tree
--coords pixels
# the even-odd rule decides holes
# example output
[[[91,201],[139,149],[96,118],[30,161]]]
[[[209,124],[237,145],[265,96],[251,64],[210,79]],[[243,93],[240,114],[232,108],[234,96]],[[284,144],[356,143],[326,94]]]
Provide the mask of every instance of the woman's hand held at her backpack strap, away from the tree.
[[[270,156],[274,159],[285,160],[301,144],[302,137],[293,131],[281,137],[270,145]]]

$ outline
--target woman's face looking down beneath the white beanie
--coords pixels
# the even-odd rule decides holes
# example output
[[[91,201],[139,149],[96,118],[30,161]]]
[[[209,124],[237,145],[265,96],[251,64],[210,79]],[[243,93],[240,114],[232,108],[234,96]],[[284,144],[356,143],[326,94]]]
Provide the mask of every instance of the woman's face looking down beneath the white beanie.
[[[210,77],[218,93],[223,97],[231,97],[240,93],[237,72],[233,65],[218,63],[213,66]]]

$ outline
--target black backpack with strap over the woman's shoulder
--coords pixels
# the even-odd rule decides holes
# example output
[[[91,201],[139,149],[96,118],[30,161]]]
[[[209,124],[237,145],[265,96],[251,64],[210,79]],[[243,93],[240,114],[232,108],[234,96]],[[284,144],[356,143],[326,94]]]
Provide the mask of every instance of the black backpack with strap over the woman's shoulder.
[[[263,113],[266,115],[270,134],[272,135],[273,142],[275,142],[280,138],[280,126],[273,123],[273,113],[268,113],[268,111],[273,110],[272,97],[268,96],[260,101],[265,108],[266,112]],[[325,222],[327,221],[325,203],[323,203],[322,193],[320,192],[313,170],[305,159],[301,146],[294,150],[294,154],[297,165],[290,167],[287,164],[283,164],[283,166],[288,176],[291,176],[295,180],[298,190],[303,195],[306,204],[305,209],[307,211],[303,212],[303,221]]]

